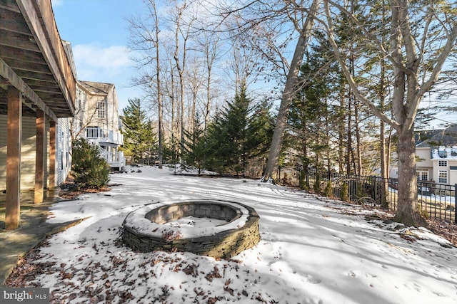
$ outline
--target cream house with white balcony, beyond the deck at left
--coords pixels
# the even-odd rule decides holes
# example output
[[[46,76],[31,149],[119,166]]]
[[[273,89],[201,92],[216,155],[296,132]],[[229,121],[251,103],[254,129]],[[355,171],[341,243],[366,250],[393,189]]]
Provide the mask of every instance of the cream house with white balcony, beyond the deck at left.
[[[114,84],[78,80],[76,107],[79,110],[74,129],[79,136],[100,147],[111,169],[123,169],[125,158],[119,147],[124,144],[124,138],[119,130],[119,103]]]

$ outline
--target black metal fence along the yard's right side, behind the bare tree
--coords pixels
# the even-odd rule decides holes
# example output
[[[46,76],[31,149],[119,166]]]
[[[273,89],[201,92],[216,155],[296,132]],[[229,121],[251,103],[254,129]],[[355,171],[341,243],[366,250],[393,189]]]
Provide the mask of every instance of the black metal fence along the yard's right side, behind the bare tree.
[[[331,172],[304,173],[295,168],[281,168],[279,178],[281,182],[343,201],[392,211],[396,211],[398,206],[398,179]],[[418,181],[419,210],[431,219],[443,219],[457,224],[456,189],[457,184]]]

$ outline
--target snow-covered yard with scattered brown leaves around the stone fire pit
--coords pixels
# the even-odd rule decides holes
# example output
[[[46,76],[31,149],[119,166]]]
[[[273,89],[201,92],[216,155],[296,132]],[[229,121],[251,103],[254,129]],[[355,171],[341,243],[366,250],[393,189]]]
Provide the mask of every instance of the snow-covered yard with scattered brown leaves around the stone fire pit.
[[[457,248],[426,229],[384,223],[374,211],[247,179],[112,174],[111,191],[54,205],[50,222],[88,218],[40,248],[62,303],[457,303]],[[224,199],[260,216],[261,241],[233,259],[134,253],[121,224],[156,201]],[[59,302],[56,302],[59,303]]]

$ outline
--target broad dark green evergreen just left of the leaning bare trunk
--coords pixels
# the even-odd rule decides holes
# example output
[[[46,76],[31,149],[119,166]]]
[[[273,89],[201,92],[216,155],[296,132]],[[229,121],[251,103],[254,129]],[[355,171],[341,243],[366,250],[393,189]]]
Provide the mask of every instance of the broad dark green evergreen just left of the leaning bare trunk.
[[[265,162],[273,136],[271,105],[251,107],[242,85],[235,98],[219,111],[204,137],[204,165],[219,173],[246,176],[253,162]],[[260,166],[263,167],[263,164]]]

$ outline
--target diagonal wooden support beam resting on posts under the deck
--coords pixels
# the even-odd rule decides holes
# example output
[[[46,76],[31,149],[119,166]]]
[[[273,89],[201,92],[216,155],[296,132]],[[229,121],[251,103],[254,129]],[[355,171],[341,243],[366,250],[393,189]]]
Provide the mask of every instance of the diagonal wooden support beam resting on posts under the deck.
[[[19,75],[14,73],[14,70],[9,67],[1,58],[0,58],[0,75],[8,80],[11,85],[14,86],[17,90],[25,95],[27,99],[29,99],[32,103],[34,103],[40,110],[42,110],[47,117],[50,117],[51,120],[56,121],[57,117],[54,112],[49,109],[49,107],[44,103],[41,98],[32,90],[29,85],[24,83]]]

